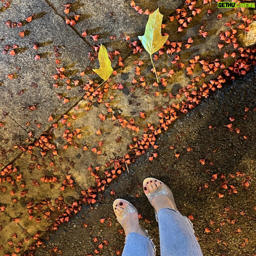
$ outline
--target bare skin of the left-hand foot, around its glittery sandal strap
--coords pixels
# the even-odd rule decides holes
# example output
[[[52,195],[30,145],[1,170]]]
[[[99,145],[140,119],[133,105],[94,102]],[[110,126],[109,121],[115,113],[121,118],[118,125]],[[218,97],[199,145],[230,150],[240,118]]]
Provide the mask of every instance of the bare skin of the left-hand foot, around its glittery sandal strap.
[[[117,201],[117,205],[115,205],[114,212],[116,216],[120,216],[127,206],[127,202],[125,201]],[[129,233],[135,232],[141,234],[142,236],[148,237],[145,231],[139,225],[139,218],[137,212],[129,213],[124,219],[123,229],[125,232],[125,236]]]

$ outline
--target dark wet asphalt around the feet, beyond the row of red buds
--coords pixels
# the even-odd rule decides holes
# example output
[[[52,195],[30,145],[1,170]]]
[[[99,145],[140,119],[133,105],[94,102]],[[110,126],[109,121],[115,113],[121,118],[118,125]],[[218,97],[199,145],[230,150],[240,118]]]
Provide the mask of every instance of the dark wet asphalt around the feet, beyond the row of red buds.
[[[116,198],[129,200],[137,207],[142,217],[140,225],[148,229],[160,255],[154,210],[142,188],[146,177],[158,178],[170,186],[178,210],[193,216],[204,255],[255,255],[255,76],[256,68],[180,117],[157,138],[156,144],[161,145],[157,159],[147,161],[150,153],[141,156],[129,166],[129,173],[105,189],[103,201],[94,209],[84,205],[36,255],[55,255],[54,248],[56,255],[59,250],[63,255],[97,255],[95,249],[100,255],[117,255],[125,236],[120,234],[122,227],[112,209]],[[240,132],[230,131],[226,127],[229,123]],[[180,154],[178,159],[176,153]],[[204,165],[200,159],[205,159]],[[115,195],[111,195],[113,190]],[[106,218],[104,223],[100,222],[102,218]],[[206,228],[209,231],[205,232]],[[93,241],[95,237],[97,242]],[[102,249],[98,248],[100,244]]]

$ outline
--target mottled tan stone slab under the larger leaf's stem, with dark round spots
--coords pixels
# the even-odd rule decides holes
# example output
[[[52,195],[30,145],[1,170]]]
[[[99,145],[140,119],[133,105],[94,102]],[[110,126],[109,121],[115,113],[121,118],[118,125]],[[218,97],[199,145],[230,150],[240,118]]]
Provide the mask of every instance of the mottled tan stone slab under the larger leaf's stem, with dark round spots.
[[[144,64],[138,66],[134,64],[134,61],[142,61]],[[159,123],[159,117],[157,114],[161,111],[161,107],[171,105],[173,102],[177,102],[179,99],[169,98],[169,93],[174,95],[178,94],[180,88],[184,87],[190,82],[183,70],[177,70],[176,67],[170,62],[171,59],[165,55],[161,56],[161,59],[157,61],[157,70],[166,68],[167,72],[159,75],[160,79],[166,78],[166,74],[170,69],[176,70],[175,74],[168,79],[166,87],[163,87],[161,83],[159,86],[153,87],[152,84],[156,81],[155,74],[150,72],[152,69],[152,63],[149,60],[148,53],[144,50],[141,54],[131,55],[124,60],[125,67],[122,72],[118,72],[116,76],[112,78],[113,83],[121,83],[124,87],[123,90],[112,90],[111,95],[104,95],[104,101],[110,103],[111,108],[115,115],[121,115],[127,121],[131,119],[135,120],[135,125],[140,126],[140,130],[137,133],[133,133],[134,136],[142,136],[144,133],[144,127],[148,128],[148,123],[157,126]],[[140,76],[134,74],[135,67],[139,67]],[[143,77],[145,84],[142,86],[140,78]],[[133,84],[135,79],[137,83]],[[146,89],[147,88],[147,89]],[[156,96],[155,93],[158,93]],[[114,99],[110,100],[113,96]],[[140,112],[145,115],[140,115]]]

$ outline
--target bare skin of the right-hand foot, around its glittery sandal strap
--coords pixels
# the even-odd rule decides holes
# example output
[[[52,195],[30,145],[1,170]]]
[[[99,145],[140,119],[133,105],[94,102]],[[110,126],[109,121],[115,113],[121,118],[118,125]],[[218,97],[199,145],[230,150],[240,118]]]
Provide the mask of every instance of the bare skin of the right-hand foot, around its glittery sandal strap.
[[[152,192],[161,185],[162,182],[159,182],[158,180],[148,180],[146,185],[143,187],[144,193],[147,195],[148,193]],[[151,204],[155,208],[156,212],[158,212],[161,208],[164,207],[172,207],[173,209],[175,209],[172,201],[167,196],[163,195],[156,196],[155,198],[153,198]]]

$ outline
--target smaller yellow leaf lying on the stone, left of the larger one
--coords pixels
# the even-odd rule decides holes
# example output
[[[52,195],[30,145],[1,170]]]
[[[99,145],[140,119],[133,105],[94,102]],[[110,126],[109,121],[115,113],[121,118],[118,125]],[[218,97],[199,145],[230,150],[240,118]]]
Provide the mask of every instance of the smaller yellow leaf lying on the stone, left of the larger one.
[[[106,81],[111,76],[113,69],[111,67],[111,61],[109,59],[108,52],[105,46],[102,44],[100,45],[98,58],[100,62],[100,68],[92,70],[96,72],[104,81]]]

